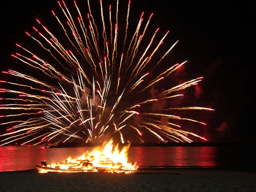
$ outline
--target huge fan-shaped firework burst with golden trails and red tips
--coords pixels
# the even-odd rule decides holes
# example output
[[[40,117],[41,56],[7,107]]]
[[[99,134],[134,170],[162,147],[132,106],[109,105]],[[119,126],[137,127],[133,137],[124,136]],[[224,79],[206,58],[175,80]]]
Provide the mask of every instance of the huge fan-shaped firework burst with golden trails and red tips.
[[[143,12],[136,29],[129,30],[130,4],[127,2],[127,12],[122,16],[124,19],[120,19],[118,1],[114,8],[109,6],[104,10],[100,0],[97,13],[100,19],[94,20],[89,0],[85,18],[76,2],[73,13],[64,1],[58,1],[59,10],[52,10],[52,13],[62,35],[50,32],[37,19],[39,25],[26,34],[44,54],[37,55],[33,48],[16,44],[19,53],[12,56],[29,71],[27,74],[3,71],[8,81],[0,81],[0,112],[3,114],[0,118],[5,119],[0,124],[5,128],[0,135],[1,146],[94,142],[104,140],[106,135],[122,143],[144,142],[145,137],[163,142],[191,142],[189,135],[205,140],[169,121],[187,120],[205,125],[176,116],[173,111],[213,109],[167,106],[151,110],[154,102],[182,97],[183,94],[175,92],[199,83],[202,77],[163,90],[155,98],[149,96],[150,89],[159,86],[164,77],[186,61],[163,71],[157,68],[177,42],[167,51],[161,50],[169,31],[162,35],[159,28],[150,32],[148,26],[153,13],[145,16]],[[155,75],[152,69],[159,73]],[[168,123],[163,125],[161,118],[168,119]]]

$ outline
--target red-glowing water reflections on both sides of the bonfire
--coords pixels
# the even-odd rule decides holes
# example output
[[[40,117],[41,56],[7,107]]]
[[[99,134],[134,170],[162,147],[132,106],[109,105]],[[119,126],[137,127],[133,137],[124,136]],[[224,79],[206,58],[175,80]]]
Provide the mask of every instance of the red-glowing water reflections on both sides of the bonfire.
[[[44,148],[44,146],[0,147],[0,172],[32,169],[48,163],[62,162],[67,157],[77,157],[90,147]],[[128,162],[138,166],[215,166],[217,147],[131,147]],[[220,164],[220,163],[219,163]]]

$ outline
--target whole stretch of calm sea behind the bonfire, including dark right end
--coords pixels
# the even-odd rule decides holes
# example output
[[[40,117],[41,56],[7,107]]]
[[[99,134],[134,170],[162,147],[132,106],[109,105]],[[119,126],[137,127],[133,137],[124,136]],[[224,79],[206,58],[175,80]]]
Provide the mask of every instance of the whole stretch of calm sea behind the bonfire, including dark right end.
[[[45,148],[45,146],[0,147],[0,172],[28,170],[47,163],[77,157],[90,147]],[[246,147],[131,147],[128,162],[138,166],[255,167],[255,150]]]

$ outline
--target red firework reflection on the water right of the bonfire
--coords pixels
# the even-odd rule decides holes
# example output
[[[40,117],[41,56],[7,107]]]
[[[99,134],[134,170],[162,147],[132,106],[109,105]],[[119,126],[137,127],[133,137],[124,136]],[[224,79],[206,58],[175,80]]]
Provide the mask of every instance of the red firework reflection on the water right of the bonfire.
[[[216,166],[216,147],[131,147],[129,162],[139,166]]]

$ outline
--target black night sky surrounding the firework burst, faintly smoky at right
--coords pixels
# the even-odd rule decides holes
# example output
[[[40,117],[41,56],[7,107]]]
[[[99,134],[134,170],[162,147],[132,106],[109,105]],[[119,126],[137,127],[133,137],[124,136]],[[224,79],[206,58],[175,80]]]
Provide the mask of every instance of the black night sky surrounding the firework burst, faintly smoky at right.
[[[255,39],[253,7],[253,3],[249,1],[131,2],[131,14],[154,12],[154,27],[158,26],[163,31],[170,30],[167,41],[180,40],[175,47],[175,53],[178,53],[178,60],[188,60],[180,71],[185,76],[183,77],[204,77],[197,91],[190,91],[194,94],[191,99],[194,105],[216,110],[202,113],[207,126],[197,132],[209,141],[251,141],[256,133],[251,112],[255,87],[252,60]],[[15,43],[29,39],[25,31],[32,30],[32,26],[36,25],[35,19],[45,19],[45,22],[52,19],[52,9],[57,9],[57,1],[10,0],[1,4],[1,71],[15,67],[14,58],[10,56],[17,50]],[[1,73],[0,80],[2,79]]]

